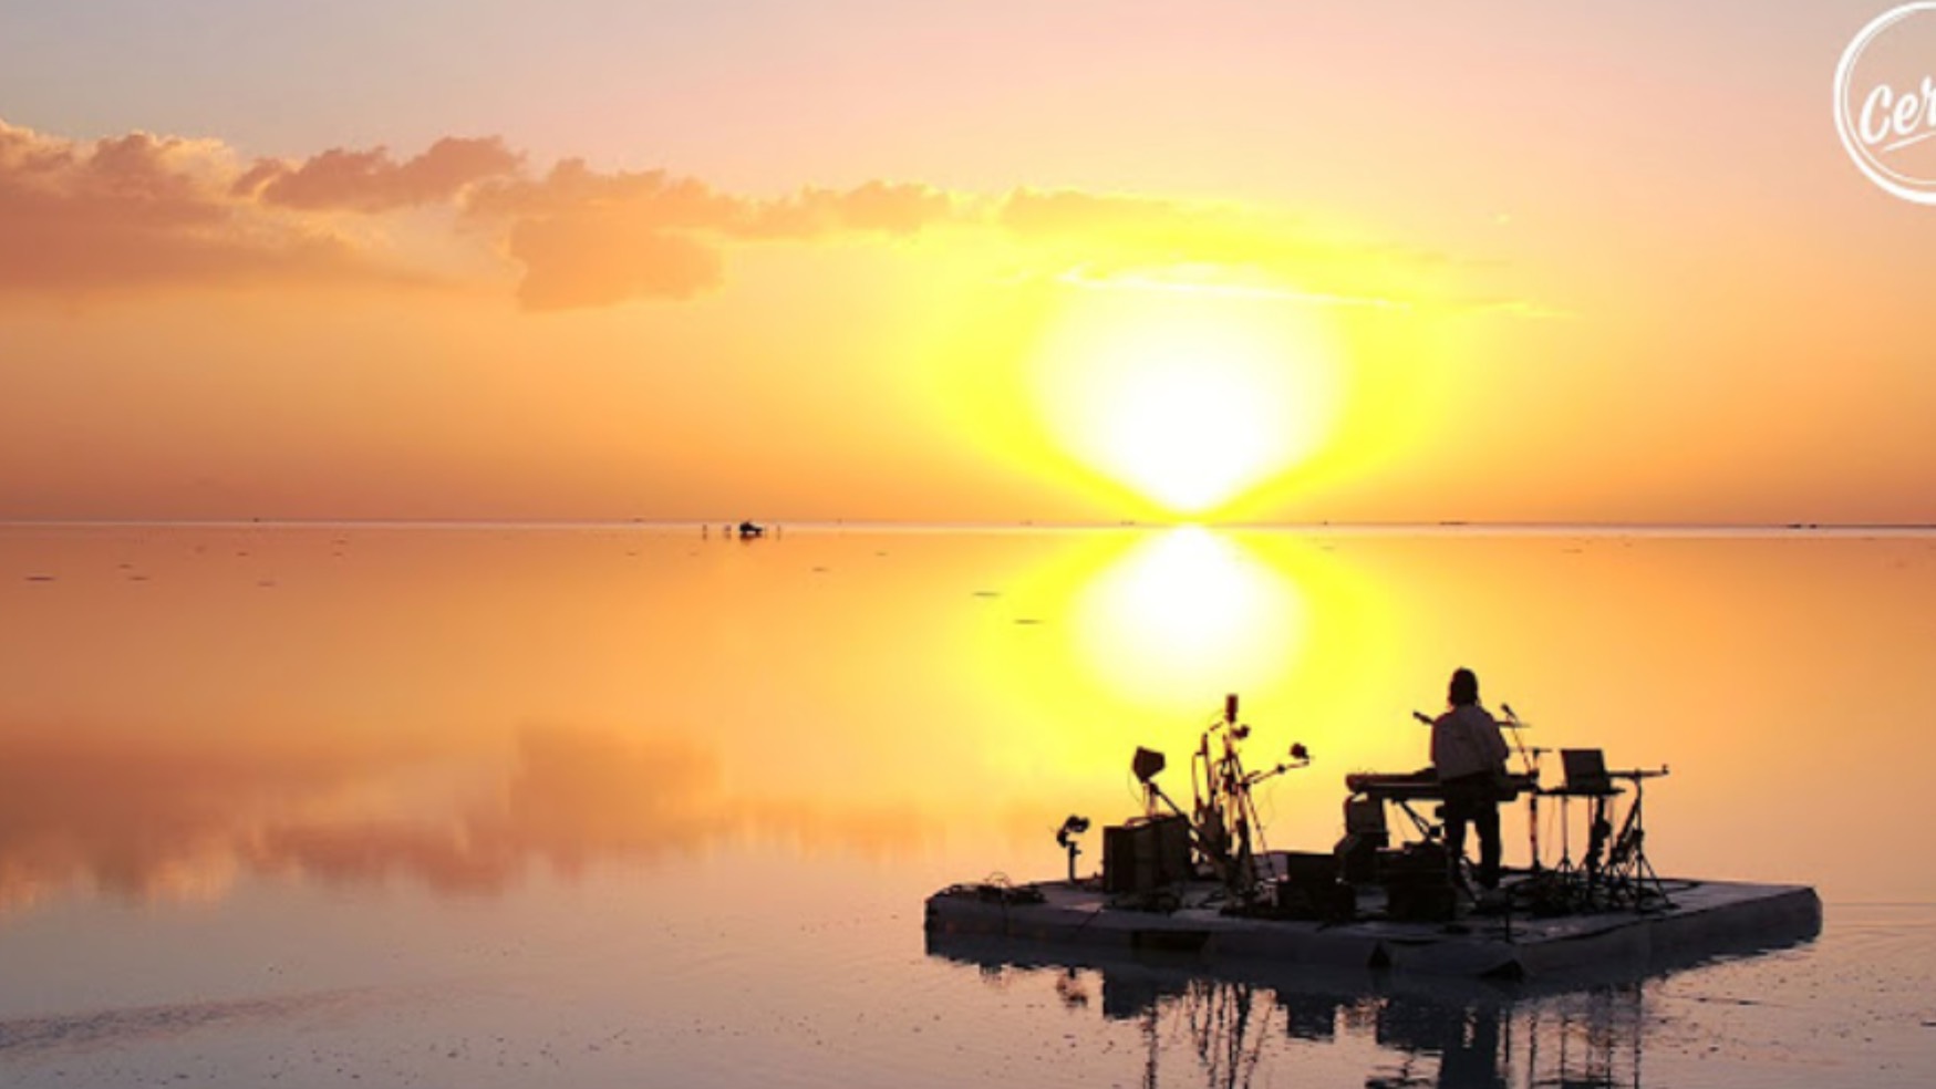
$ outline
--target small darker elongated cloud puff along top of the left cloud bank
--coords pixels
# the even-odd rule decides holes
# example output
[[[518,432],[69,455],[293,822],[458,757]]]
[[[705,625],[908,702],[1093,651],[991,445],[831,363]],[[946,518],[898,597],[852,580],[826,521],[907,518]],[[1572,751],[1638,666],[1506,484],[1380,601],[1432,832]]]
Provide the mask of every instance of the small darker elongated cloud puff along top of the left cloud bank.
[[[379,213],[451,201],[467,186],[515,172],[523,161],[498,137],[443,137],[405,162],[391,161],[383,147],[335,147],[294,166],[261,159],[230,190],[267,205]]]

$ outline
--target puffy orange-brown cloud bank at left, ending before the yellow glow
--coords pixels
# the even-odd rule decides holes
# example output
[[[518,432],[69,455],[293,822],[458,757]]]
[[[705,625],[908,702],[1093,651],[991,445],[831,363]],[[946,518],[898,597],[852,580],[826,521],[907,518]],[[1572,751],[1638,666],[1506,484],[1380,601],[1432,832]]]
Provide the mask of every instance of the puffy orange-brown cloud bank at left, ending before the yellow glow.
[[[530,176],[498,137],[445,137],[408,159],[337,147],[244,166],[215,139],[89,143],[0,122],[0,294],[424,280],[445,263],[408,248],[424,232],[385,230],[387,217],[424,209],[494,238],[523,269],[529,309],[687,300],[724,284],[732,246],[904,236],[960,215],[953,195],[898,182],[759,199],[577,159]],[[445,242],[461,248],[459,234]]]

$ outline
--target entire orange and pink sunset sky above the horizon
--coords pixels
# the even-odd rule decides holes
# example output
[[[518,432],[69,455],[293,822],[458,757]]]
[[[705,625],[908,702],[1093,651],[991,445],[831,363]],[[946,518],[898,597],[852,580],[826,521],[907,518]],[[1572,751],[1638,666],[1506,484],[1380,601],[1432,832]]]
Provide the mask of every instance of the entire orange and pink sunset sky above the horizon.
[[[10,4],[0,518],[1930,522],[1884,10]]]

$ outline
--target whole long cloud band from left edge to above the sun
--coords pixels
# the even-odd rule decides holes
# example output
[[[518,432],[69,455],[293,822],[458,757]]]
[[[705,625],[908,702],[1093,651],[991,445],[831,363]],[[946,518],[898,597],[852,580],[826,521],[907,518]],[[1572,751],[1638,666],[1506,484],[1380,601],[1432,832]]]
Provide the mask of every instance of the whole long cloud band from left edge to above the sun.
[[[265,279],[389,288],[486,280],[511,265],[517,302],[556,311],[691,300],[718,290],[745,248],[925,230],[993,232],[1038,277],[1078,286],[1322,304],[1454,306],[1450,269],[1473,267],[1326,238],[1278,209],[1218,201],[1026,188],[989,195],[889,180],[759,197],[666,170],[602,172],[581,159],[534,174],[499,137],[443,137],[407,159],[337,147],[244,164],[215,139],[85,143],[0,122],[0,296]],[[1189,277],[1177,284],[1150,269]],[[1547,313],[1514,298],[1489,298],[1487,309]]]

